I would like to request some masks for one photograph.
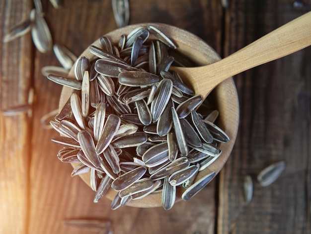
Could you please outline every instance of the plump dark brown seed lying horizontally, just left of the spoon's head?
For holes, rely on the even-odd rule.
[[[141,71],[121,72],[118,77],[120,84],[132,87],[152,85],[160,80],[161,78],[155,74]]]

